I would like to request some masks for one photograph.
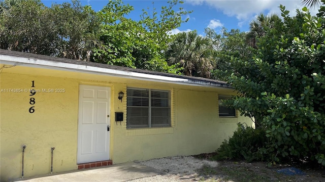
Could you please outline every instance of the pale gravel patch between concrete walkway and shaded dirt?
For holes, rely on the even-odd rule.
[[[143,165],[164,171],[164,174],[131,180],[140,181],[193,181],[198,176],[196,170],[204,166],[217,167],[218,162],[197,159],[192,156],[166,157],[140,162]]]

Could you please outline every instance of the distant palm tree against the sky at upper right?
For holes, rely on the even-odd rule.
[[[259,14],[249,24],[249,32],[246,37],[248,44],[253,48],[257,48],[256,39],[265,36],[267,33],[266,29],[272,28],[274,23],[279,20],[280,18],[276,14],[272,14],[271,16],[266,16],[263,13]]]

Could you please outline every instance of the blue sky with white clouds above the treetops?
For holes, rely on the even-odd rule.
[[[204,29],[210,27],[217,32],[222,27],[231,30],[233,28],[240,29],[241,31],[249,30],[249,22],[252,21],[259,13],[264,14],[278,14],[280,15],[279,5],[282,4],[290,11],[290,15],[296,14],[296,9],[302,9],[303,5],[300,0],[183,0],[184,4],[181,5],[186,11],[193,11],[185,18],[189,18],[187,23],[182,24],[172,33],[181,31],[197,30],[199,34],[204,34]],[[46,6],[51,6],[52,3],[61,4],[62,2],[71,1],[42,1]],[[142,9],[153,7],[160,10],[161,6],[167,6],[167,1],[150,1],[150,0],[128,0],[123,1],[134,7],[134,11],[129,14],[129,18],[138,20],[142,14]],[[154,2],[154,4],[152,4]],[[108,0],[87,0],[81,1],[83,5],[90,5],[95,11],[100,11],[107,3]],[[176,9],[175,9],[176,10]],[[317,9],[310,10],[313,15],[317,13]]]

